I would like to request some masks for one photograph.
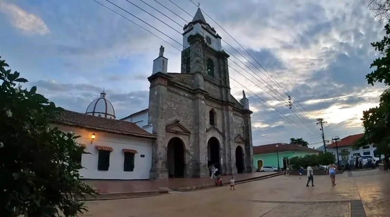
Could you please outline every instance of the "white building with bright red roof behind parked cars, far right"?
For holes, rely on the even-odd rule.
[[[327,150],[330,152],[333,152],[334,155],[337,153],[338,149],[338,155],[339,160],[347,160],[351,159],[351,157],[355,157],[358,155],[372,155],[375,157],[380,157],[379,154],[376,153],[376,147],[372,144],[367,144],[360,148],[352,147],[353,143],[356,142],[358,139],[363,137],[363,133],[355,134],[351,136],[347,136],[339,141],[337,141],[337,148],[336,143],[332,143],[331,145],[327,146]],[[337,160],[337,156],[336,156]]]

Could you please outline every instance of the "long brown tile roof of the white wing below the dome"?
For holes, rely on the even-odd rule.
[[[149,133],[141,127],[138,127],[136,124],[128,121],[101,118],[69,110],[64,110],[58,114],[53,122],[70,126],[97,129],[106,132],[114,132],[124,135],[156,138],[155,134]]]

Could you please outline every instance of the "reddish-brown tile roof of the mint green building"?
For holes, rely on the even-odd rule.
[[[278,148],[276,148],[276,145],[279,145]],[[281,151],[307,151],[307,152],[314,152],[314,153],[321,152],[313,148],[302,147],[299,145],[290,145],[286,143],[274,143],[269,145],[254,146],[253,154],[275,153],[277,150],[279,152]]]

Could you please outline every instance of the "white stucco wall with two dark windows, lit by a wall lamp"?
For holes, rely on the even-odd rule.
[[[150,138],[139,138],[127,135],[120,135],[98,130],[89,130],[76,128],[65,125],[55,125],[64,132],[75,132],[81,137],[78,142],[87,146],[86,152],[91,154],[83,154],[81,165],[85,167],[81,169],[80,175],[83,179],[111,179],[111,180],[142,180],[149,179],[149,171],[152,167],[152,141]],[[91,135],[96,134],[96,139],[91,144]],[[114,150],[110,154],[110,167],[108,171],[98,170],[98,150],[95,145],[110,146]],[[134,171],[123,171],[124,155],[122,149],[137,150],[135,154]],[[141,158],[141,155],[145,157]]]

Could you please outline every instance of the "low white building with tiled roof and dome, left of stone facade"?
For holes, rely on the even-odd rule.
[[[149,179],[156,135],[135,123],[115,120],[115,110],[105,97],[103,91],[85,114],[65,110],[53,127],[80,135],[78,143],[91,153],[80,156],[83,179]]]

